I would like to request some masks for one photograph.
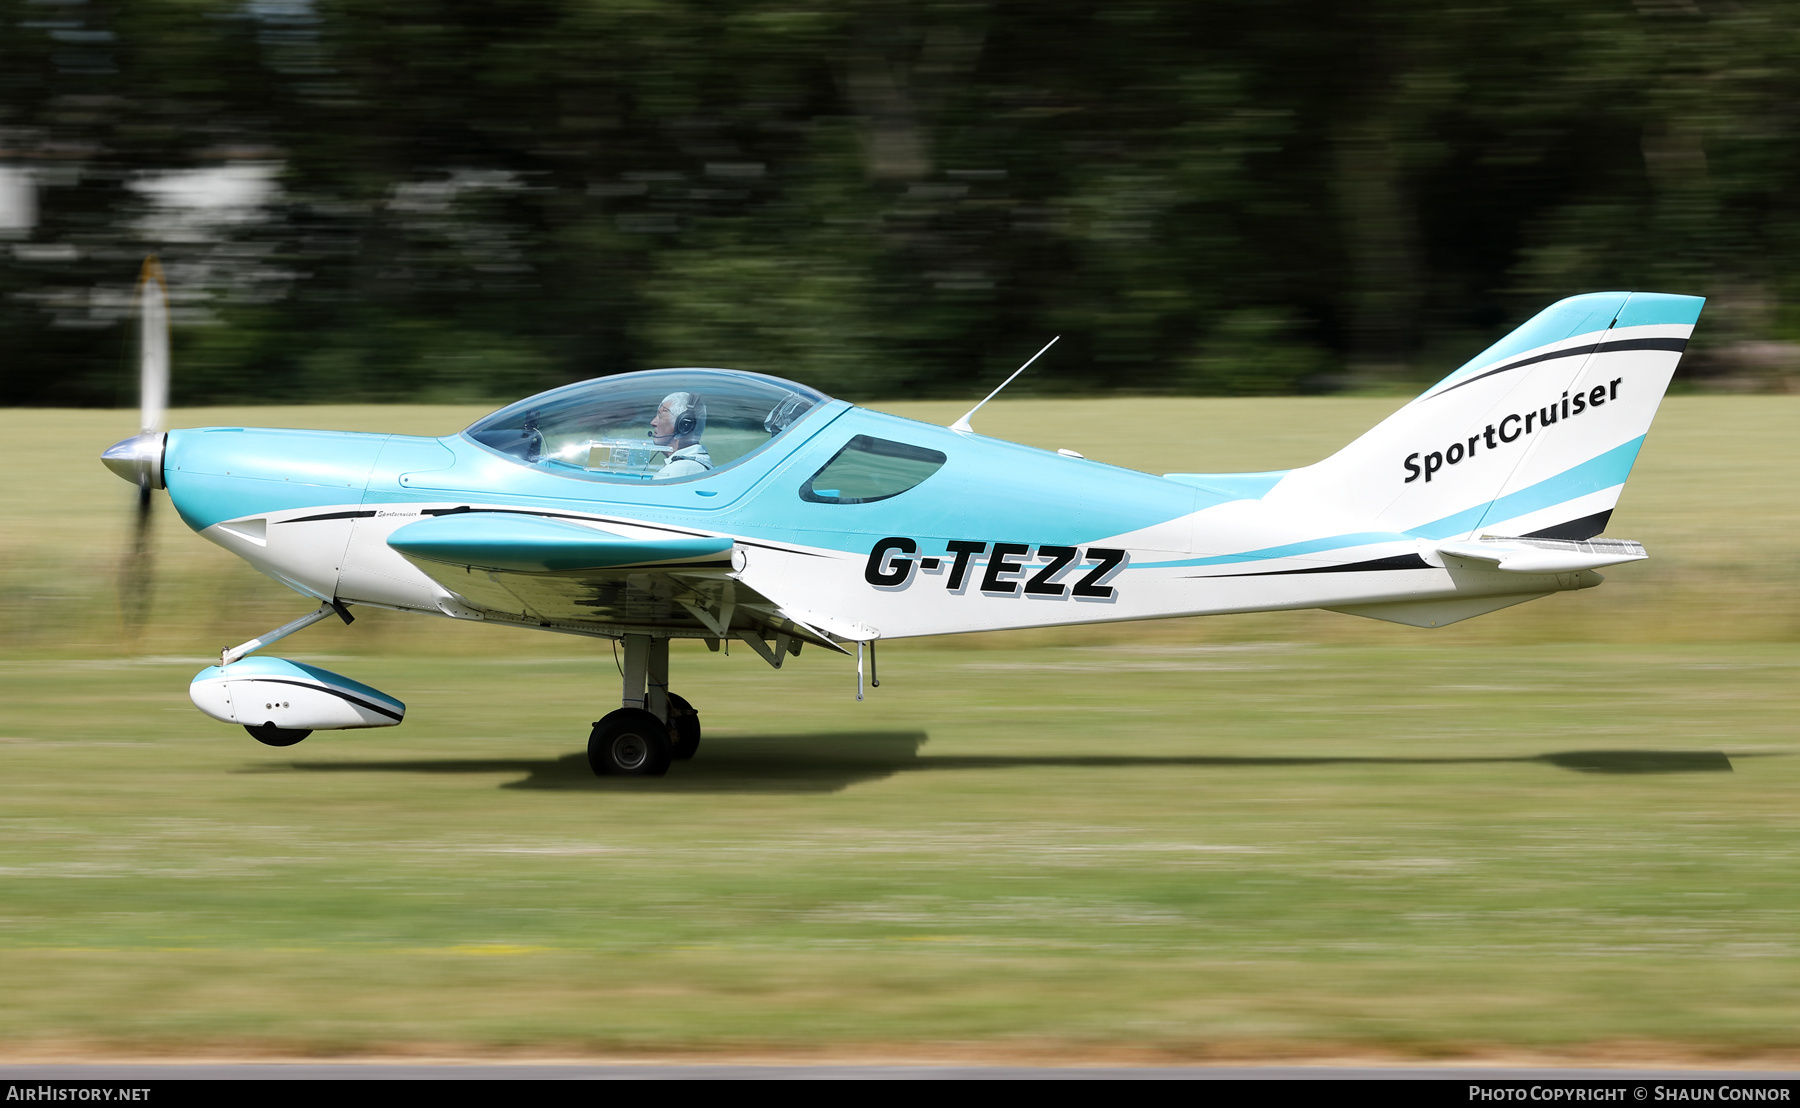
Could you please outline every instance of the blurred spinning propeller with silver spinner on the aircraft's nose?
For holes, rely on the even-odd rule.
[[[169,408],[169,286],[155,255],[137,277],[139,313],[139,433],[103,455],[110,469],[137,484],[131,550],[119,567],[119,612],[130,635],[149,621],[157,585],[151,489],[162,487],[162,417]]]

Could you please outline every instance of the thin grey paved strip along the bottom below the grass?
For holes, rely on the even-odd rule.
[[[9,1081],[1800,1081],[1800,1070],[1503,1067],[958,1067],[958,1065],[400,1065],[99,1063],[4,1065]]]

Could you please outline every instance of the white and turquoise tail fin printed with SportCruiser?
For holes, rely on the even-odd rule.
[[[1591,538],[1606,529],[1705,304],[1586,293],[1552,304],[1273,498],[1370,531]]]

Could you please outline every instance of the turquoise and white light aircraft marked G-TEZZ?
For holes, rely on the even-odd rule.
[[[589,761],[661,775],[700,741],[677,637],[776,669],[853,646],[860,698],[882,639],[1283,608],[1436,628],[1595,586],[1645,558],[1597,536],[1701,304],[1571,297],[1318,464],[1161,477],[720,369],[580,381],[441,439],[164,433],[146,311],[144,433],[103,460],[319,601],[194,678],[209,716],[275,746],[400,723],[376,689],[247,657],[371,604],[623,642]]]

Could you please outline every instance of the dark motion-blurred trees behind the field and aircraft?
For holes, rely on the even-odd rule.
[[[1433,380],[1553,299],[1800,338],[1791,0],[0,0],[0,403]]]

